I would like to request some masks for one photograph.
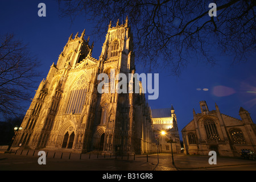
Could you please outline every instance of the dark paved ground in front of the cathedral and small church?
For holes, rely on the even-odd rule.
[[[0,171],[201,171],[236,170],[256,171],[255,160],[217,156],[217,164],[209,164],[210,156],[174,154],[123,155],[76,154],[46,151],[46,164],[39,164],[39,151],[0,150]],[[230,168],[232,170],[232,168]]]

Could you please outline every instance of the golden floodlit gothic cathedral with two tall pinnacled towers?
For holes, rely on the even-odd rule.
[[[128,19],[106,34],[99,59],[93,43],[69,37],[57,64],[52,64],[23,119],[14,146],[106,153],[151,152],[151,110],[143,93],[99,93],[97,77],[135,73],[133,36]],[[118,80],[114,80],[117,84]],[[102,89],[109,88],[104,84]]]

